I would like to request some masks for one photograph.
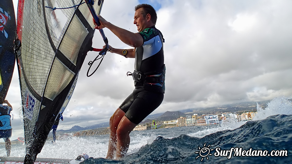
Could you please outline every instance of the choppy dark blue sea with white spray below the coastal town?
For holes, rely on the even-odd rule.
[[[75,159],[86,153],[91,158],[82,164],[292,163],[291,97],[275,98],[265,109],[258,106],[257,111],[252,121],[227,119],[217,126],[133,131],[128,153],[121,161],[105,159],[109,135],[69,137],[56,144],[48,141],[38,157]],[[234,151],[230,156],[228,150],[234,149],[241,156],[234,156]],[[0,156],[4,154],[5,148],[1,147]],[[25,146],[12,145],[11,156],[25,156]]]

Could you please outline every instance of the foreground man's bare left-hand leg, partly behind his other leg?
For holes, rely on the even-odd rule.
[[[117,148],[117,128],[121,121],[121,119],[124,117],[125,112],[122,111],[120,108],[114,112],[112,117],[109,119],[109,146],[107,150],[107,159],[114,159],[114,154],[116,153]]]

